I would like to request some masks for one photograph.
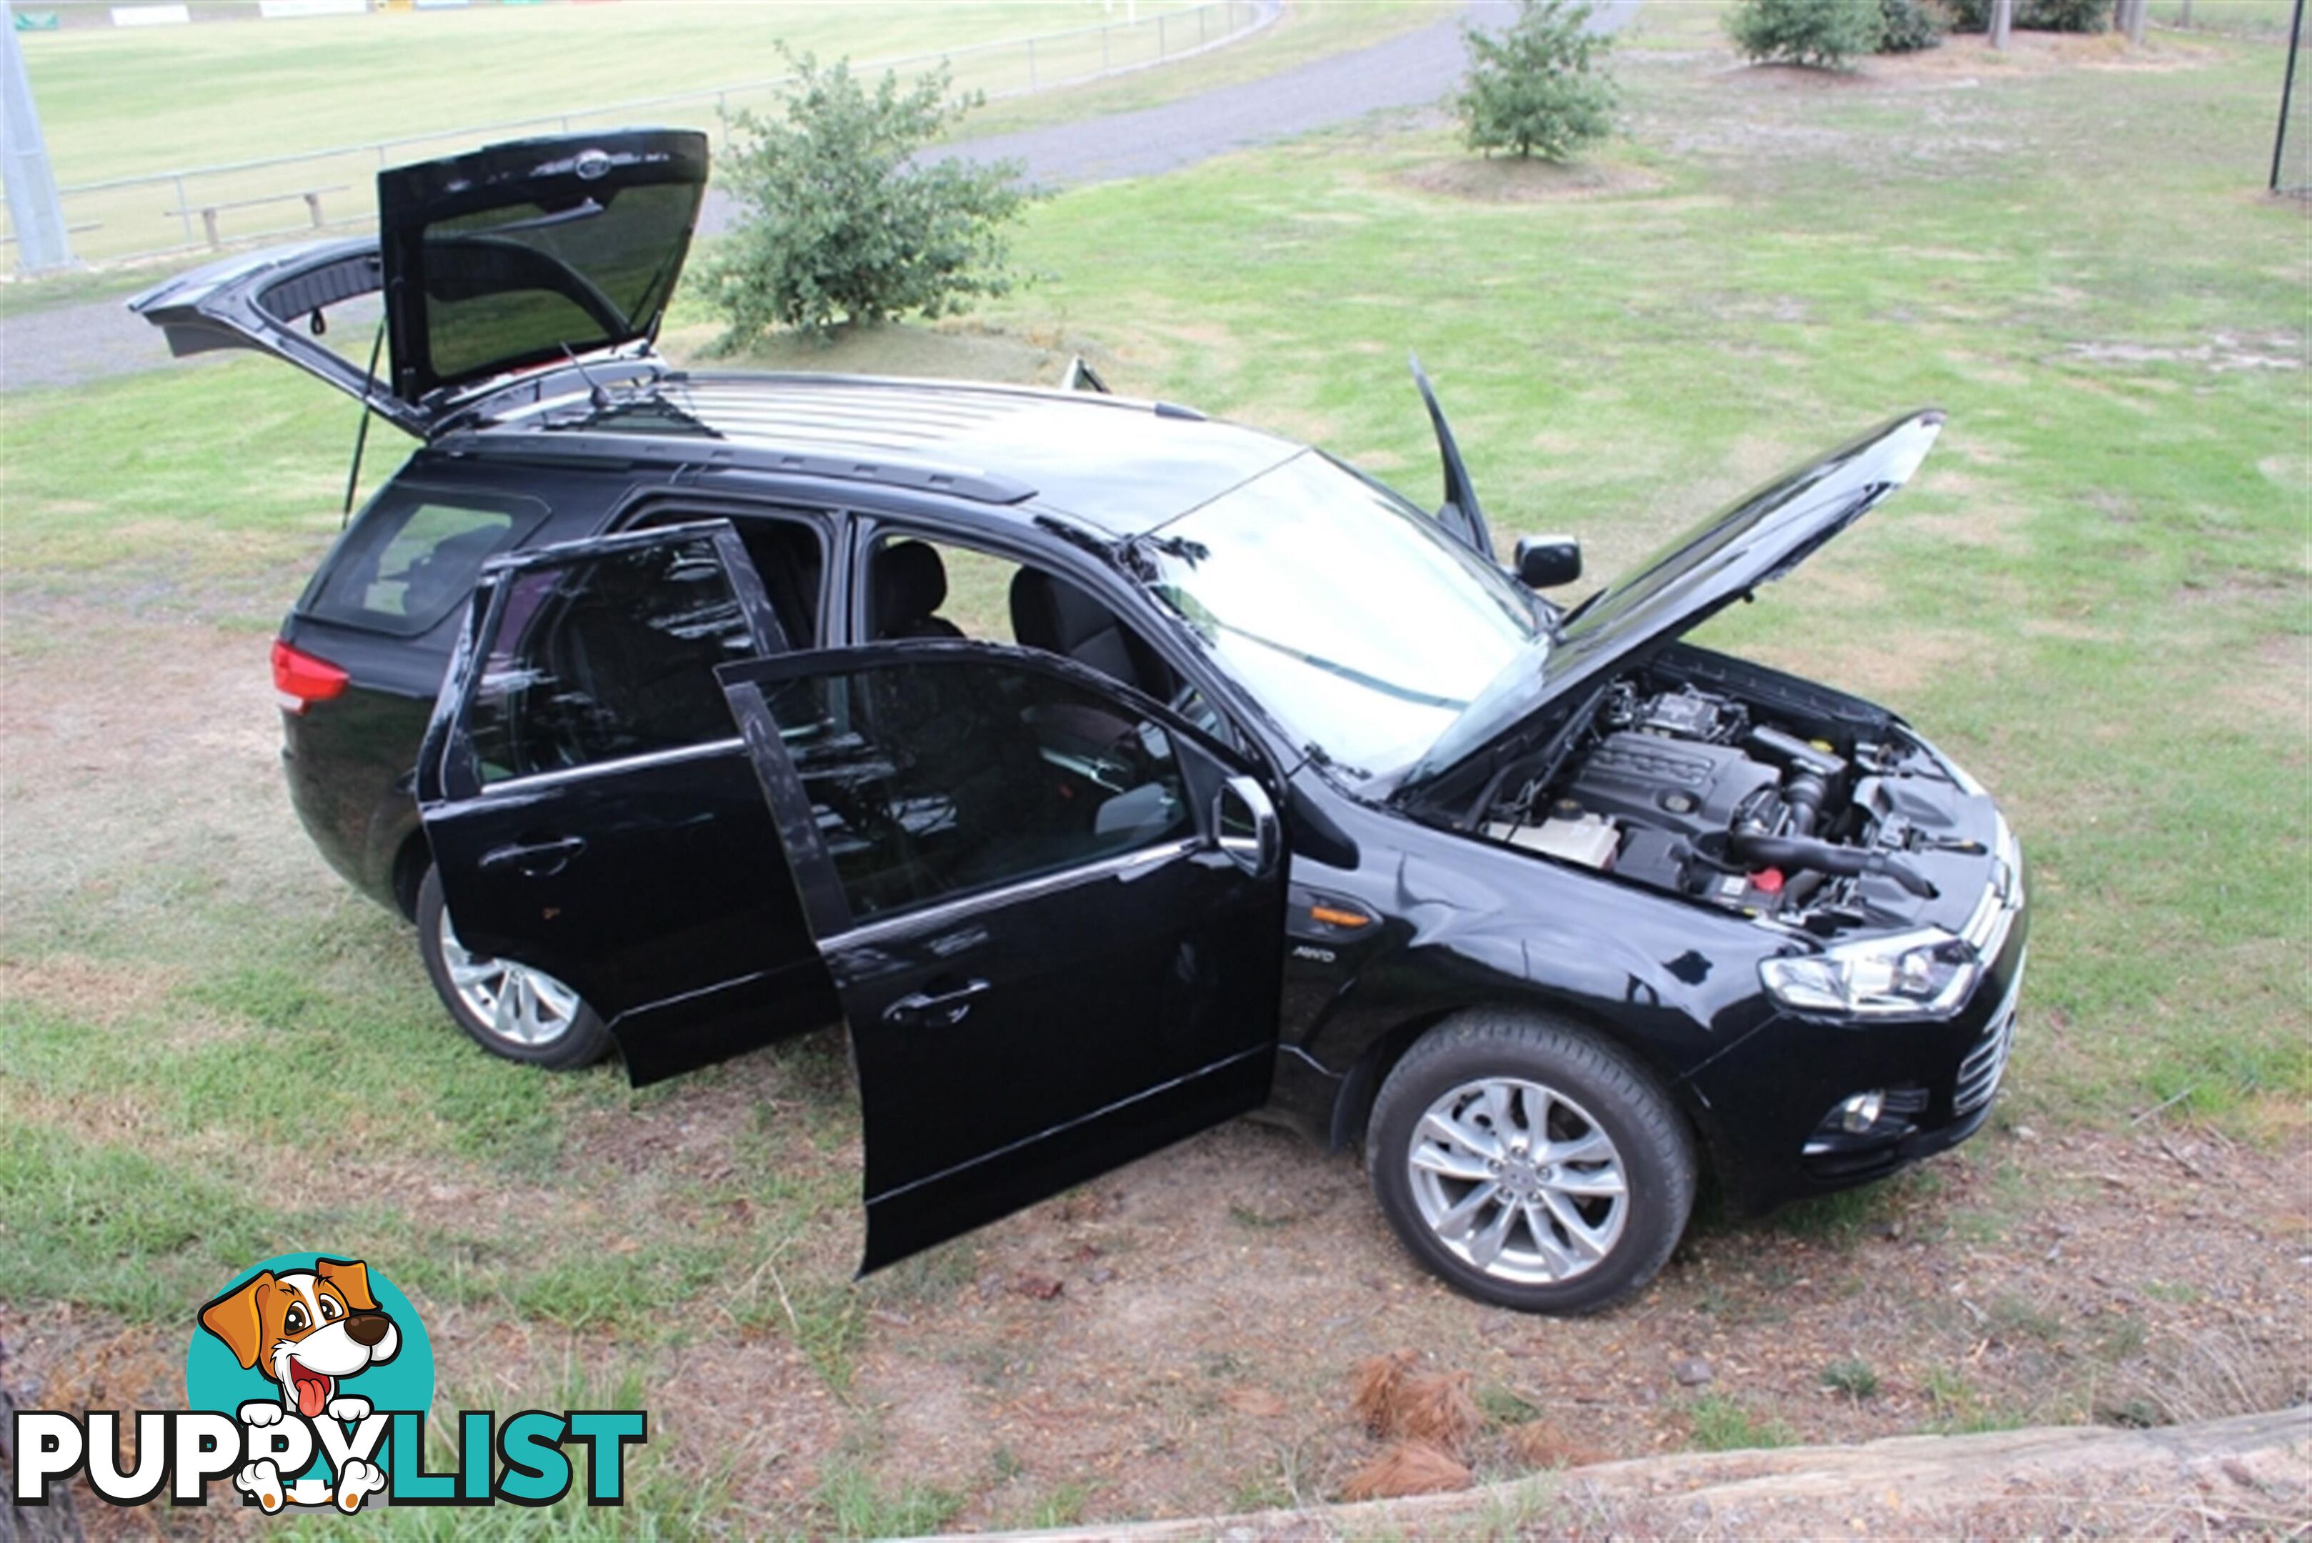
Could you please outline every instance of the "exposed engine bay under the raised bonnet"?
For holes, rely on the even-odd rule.
[[[1489,840],[1771,925],[1914,918],[1951,854],[1984,854],[1981,789],[1884,713],[1836,713],[1739,662],[1639,669],[1500,780]],[[1859,708],[1850,699],[1840,699]]]

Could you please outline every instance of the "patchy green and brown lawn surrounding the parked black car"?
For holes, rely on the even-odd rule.
[[[1089,347],[1121,391],[1433,497],[1415,347],[1496,530],[1572,530],[1598,574],[1803,453],[1947,407],[1912,490],[1704,641],[1898,706],[2011,812],[2032,976],[1998,1129],[1965,1154],[1706,1231],[1607,1321],[1489,1328],[1403,1265],[1353,1164],[1246,1127],[1140,1166],[1170,1164],[1163,1182],[853,1286],[839,1043],[645,1092],[492,1062],[444,1022],[407,930],[305,849],[264,643],[338,527],[351,421],[303,377],[224,361],[0,398],[0,1337],[88,1397],[155,1407],[190,1302],[236,1268],[368,1254],[425,1305],[442,1409],[576,1407],[576,1367],[659,1411],[624,1520],[675,1534],[1327,1494],[1355,1441],[1339,1416],[1230,1400],[1258,1379],[1295,1411],[1336,1400],[1346,1358],[1394,1342],[1521,1367],[1487,1372],[1524,1388],[1496,1400],[1512,1409],[1595,1365],[1602,1455],[2088,1418],[2115,1376],[2157,1381],[2146,1326],[2157,1344],[2231,1293],[2215,1265],[2136,1249],[2162,1277],[2125,1319],[2011,1286],[1970,1305],[1991,1328],[1926,1272],[2053,1261],[2023,1221],[2048,1196],[2173,1187],[2157,1152],[2164,1180],[2099,1182],[2048,1138],[2171,1131],[2273,1171],[2307,1140],[2312,238],[2300,204],[2257,194],[2280,56],[2162,35],[2000,62],[1954,42],[1824,81],[1734,72],[1692,12],[1648,7],[1632,134],[1586,169],[1468,162],[1445,130],[1387,123],[1070,192],[1031,211],[1031,289],[816,356],[1036,375]],[[2259,1233],[2289,1256],[2291,1205]],[[1868,1242],[1891,1219],[1928,1261],[1914,1298]],[[1082,1249],[1124,1272],[1110,1291],[1172,1270],[1232,1342],[1191,1344],[1172,1302],[1098,1319],[1080,1275],[1061,1307],[1082,1316],[1006,1289]],[[1272,1258],[1299,1275],[1248,1263]],[[2294,1291],[2254,1312],[2298,1321]],[[1371,1312],[1332,1316],[1343,1300]],[[1894,1326],[1859,1339],[1884,1346],[1870,1400],[1822,1393],[1847,1344],[1780,1390],[1611,1381],[1690,1337],[1766,1365],[1824,1323],[1877,1332],[1857,1305]],[[1512,1363],[1512,1342],[1542,1349]],[[712,1400],[691,1397],[703,1358]]]

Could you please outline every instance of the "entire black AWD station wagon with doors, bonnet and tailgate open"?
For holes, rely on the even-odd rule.
[[[1766,1208],[1984,1122],[2007,824],[1894,713],[1681,641],[1940,414],[1561,608],[1574,548],[1496,562],[1433,396],[1427,511],[1163,403],[666,366],[705,174],[495,146],[132,303],[423,442],[273,666],[298,814],[483,1046],[647,1083],[839,1018],[869,1270],[1269,1110],[1542,1312],[1646,1282],[1704,1175]],[[381,377],[319,340],[379,294]]]

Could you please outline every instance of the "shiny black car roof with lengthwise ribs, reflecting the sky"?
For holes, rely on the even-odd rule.
[[[1059,511],[1112,537],[1163,525],[1304,451],[1186,407],[1087,391],[666,372],[610,396],[566,370],[532,400],[499,398],[486,426],[437,446],[874,481]]]

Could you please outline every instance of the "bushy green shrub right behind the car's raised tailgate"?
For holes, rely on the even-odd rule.
[[[1027,194],[1020,162],[916,164],[980,95],[950,97],[946,62],[874,93],[846,60],[821,69],[779,49],[795,72],[784,118],[731,116],[719,180],[740,217],[705,266],[707,303],[738,347],[772,326],[825,333],[837,322],[939,317],[1010,289],[1006,222]]]

